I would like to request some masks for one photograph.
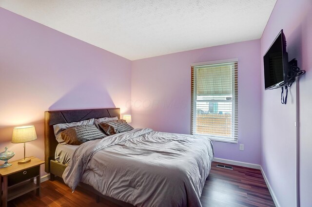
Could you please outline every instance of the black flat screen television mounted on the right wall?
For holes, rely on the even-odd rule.
[[[282,87],[280,84],[287,81],[289,70],[286,39],[283,30],[279,32],[269,50],[263,56],[263,61],[265,90]]]

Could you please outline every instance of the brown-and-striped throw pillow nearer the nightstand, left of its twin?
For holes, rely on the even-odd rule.
[[[62,139],[69,145],[81,145],[90,140],[104,138],[106,135],[94,125],[82,125],[68,128],[60,133]]]

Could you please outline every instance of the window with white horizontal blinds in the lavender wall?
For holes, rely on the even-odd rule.
[[[192,134],[237,142],[237,59],[192,66]]]

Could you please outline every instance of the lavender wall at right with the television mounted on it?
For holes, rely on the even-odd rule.
[[[261,56],[278,32],[284,29],[289,59],[297,58],[307,74],[299,81],[300,110],[300,201],[312,205],[312,1],[277,0],[261,38]],[[264,91],[262,83],[262,151],[261,165],[281,207],[296,206],[296,102],[295,84],[286,106],[280,104],[280,90]]]

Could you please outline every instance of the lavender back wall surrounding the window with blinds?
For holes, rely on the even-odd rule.
[[[238,58],[238,144],[214,142],[215,157],[260,164],[260,40],[132,62],[133,126],[189,134],[191,63]],[[130,103],[128,103],[130,104]]]

